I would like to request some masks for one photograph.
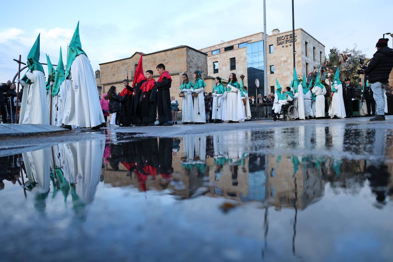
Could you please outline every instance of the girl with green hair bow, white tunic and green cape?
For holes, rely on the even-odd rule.
[[[204,124],[206,123],[205,119],[205,97],[203,95],[203,88],[206,86],[205,82],[202,80],[202,72],[195,71],[194,78],[195,84],[193,92],[198,96],[194,97],[194,114],[193,120],[195,124]]]

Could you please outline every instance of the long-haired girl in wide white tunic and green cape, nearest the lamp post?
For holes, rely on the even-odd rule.
[[[243,102],[240,93],[240,84],[237,82],[237,77],[234,73],[229,75],[228,85],[226,86],[227,104],[226,104],[226,119],[228,123],[237,123],[240,120],[244,121],[243,116]]]

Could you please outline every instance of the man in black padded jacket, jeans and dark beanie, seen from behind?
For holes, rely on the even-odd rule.
[[[393,68],[393,49],[387,47],[388,41],[387,38],[378,40],[375,45],[377,51],[364,70],[371,83],[376,103],[376,116],[371,118],[370,121],[385,120],[385,87]]]

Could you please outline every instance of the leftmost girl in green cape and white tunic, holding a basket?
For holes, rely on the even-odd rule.
[[[194,106],[193,106],[193,83],[189,81],[188,75],[183,74],[183,83],[180,86],[180,93],[184,94],[182,97],[182,122],[187,125],[193,122]]]

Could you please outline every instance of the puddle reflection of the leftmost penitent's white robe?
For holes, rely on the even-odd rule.
[[[31,192],[43,194],[49,192],[50,185],[50,148],[22,153],[28,181],[25,185],[33,182],[38,183]]]

